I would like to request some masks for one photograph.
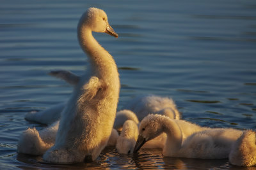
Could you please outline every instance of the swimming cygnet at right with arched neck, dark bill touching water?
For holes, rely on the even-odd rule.
[[[173,120],[163,115],[148,115],[141,121],[134,153],[145,142],[156,138],[162,132],[167,134],[163,148],[164,157],[200,159],[228,158],[232,144],[243,133],[235,129],[199,127],[184,120]]]

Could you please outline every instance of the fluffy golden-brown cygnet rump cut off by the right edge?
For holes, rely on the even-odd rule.
[[[232,145],[229,154],[230,164],[237,166],[256,166],[256,133],[244,131]]]

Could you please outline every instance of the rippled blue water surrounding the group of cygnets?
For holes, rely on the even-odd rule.
[[[156,94],[173,97],[196,124],[256,130],[255,1],[1,1],[0,169],[241,169],[227,159],[163,158],[161,150],[110,148],[71,166],[17,154],[21,132],[43,128],[24,115],[66,101],[72,90],[47,72],[83,74],[76,26],[90,6],[104,9],[120,36],[94,34],[119,67],[119,109],[137,94]]]

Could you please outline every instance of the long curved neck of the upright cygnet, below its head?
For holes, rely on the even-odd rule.
[[[90,27],[79,26],[77,36],[81,48],[88,54],[92,74],[104,78],[109,76],[107,73],[113,73],[111,69],[117,70],[115,60],[93,37]]]

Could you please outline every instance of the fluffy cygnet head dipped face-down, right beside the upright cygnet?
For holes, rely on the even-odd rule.
[[[122,132],[116,141],[116,150],[118,153],[132,153],[138,136],[138,125],[132,120],[124,123]]]

